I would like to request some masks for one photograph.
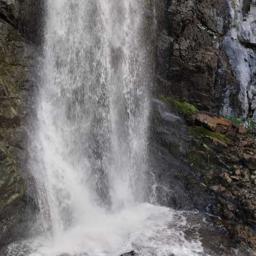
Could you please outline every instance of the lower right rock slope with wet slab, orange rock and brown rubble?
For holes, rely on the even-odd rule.
[[[255,250],[256,134],[206,112],[191,122],[175,103],[165,98],[153,105],[157,202],[219,216],[234,239]]]

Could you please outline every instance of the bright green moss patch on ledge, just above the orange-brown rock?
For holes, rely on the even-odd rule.
[[[196,106],[190,103],[180,102],[170,97],[164,97],[163,95],[160,96],[160,99],[164,102],[171,103],[173,105],[174,110],[177,113],[181,113],[184,116],[196,115],[198,112]]]

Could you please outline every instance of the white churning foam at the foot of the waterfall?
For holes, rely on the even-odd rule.
[[[146,203],[119,212],[97,211],[91,219],[57,237],[27,241],[33,251],[28,255],[119,256],[131,250],[143,256],[206,255],[198,239],[186,240],[186,228],[182,212]],[[9,256],[23,255],[22,251],[14,252],[10,246]]]

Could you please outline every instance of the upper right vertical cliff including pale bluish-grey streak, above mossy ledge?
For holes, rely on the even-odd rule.
[[[254,118],[255,3],[166,0],[158,7],[158,91],[200,110]]]

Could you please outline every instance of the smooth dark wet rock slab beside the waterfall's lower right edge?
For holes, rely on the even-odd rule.
[[[201,169],[194,172],[190,166],[193,165],[189,160],[192,137],[182,113],[161,100],[154,100],[152,105],[149,150],[155,184],[153,203],[178,210],[207,211],[216,199],[203,184]],[[200,156],[200,152],[195,154]]]

